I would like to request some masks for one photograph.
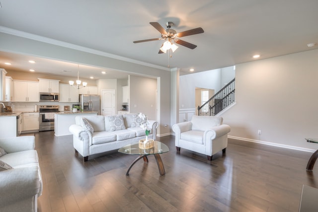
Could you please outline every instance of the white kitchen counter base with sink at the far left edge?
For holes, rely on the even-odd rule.
[[[17,137],[19,134],[19,116],[21,112],[0,113],[0,138]]]

